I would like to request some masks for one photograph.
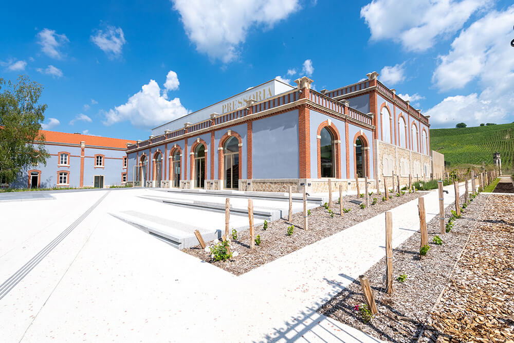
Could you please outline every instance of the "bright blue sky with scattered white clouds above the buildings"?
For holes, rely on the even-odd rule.
[[[509,7],[510,6],[510,7]],[[2,2],[0,77],[44,86],[45,128],[145,139],[274,77],[379,80],[432,128],[514,120],[504,1]]]

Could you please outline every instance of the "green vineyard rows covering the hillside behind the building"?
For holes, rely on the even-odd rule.
[[[447,167],[492,165],[500,152],[504,173],[514,170],[514,123],[461,129],[430,130],[430,148],[445,155]],[[448,165],[449,163],[449,165]]]

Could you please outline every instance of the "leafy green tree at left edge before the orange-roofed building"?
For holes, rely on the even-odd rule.
[[[48,153],[36,141],[46,104],[38,104],[43,86],[19,76],[15,84],[0,78],[0,180],[12,183],[28,167],[43,163]]]

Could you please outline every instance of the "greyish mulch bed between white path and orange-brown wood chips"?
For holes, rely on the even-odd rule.
[[[419,233],[393,249],[394,281],[391,295],[382,288],[385,285],[385,257],[365,273],[374,291],[379,312],[368,323],[364,323],[359,312],[354,310],[356,305],[365,303],[359,280],[348,285],[323,305],[319,312],[382,340],[411,342],[417,339],[424,323],[430,318],[430,311],[440,292],[450,282],[455,261],[486,201],[486,195],[474,198],[462,218],[455,221],[450,233],[440,234],[437,217],[427,223],[430,250],[423,258],[419,258]],[[461,197],[462,202],[464,197]],[[446,218],[454,208],[448,206]],[[442,238],[443,245],[433,243],[435,235]],[[396,280],[400,274],[407,275],[404,282]]]

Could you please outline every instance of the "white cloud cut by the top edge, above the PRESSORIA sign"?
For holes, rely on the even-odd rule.
[[[196,50],[228,63],[237,59],[250,28],[271,28],[297,11],[298,0],[172,0]]]

